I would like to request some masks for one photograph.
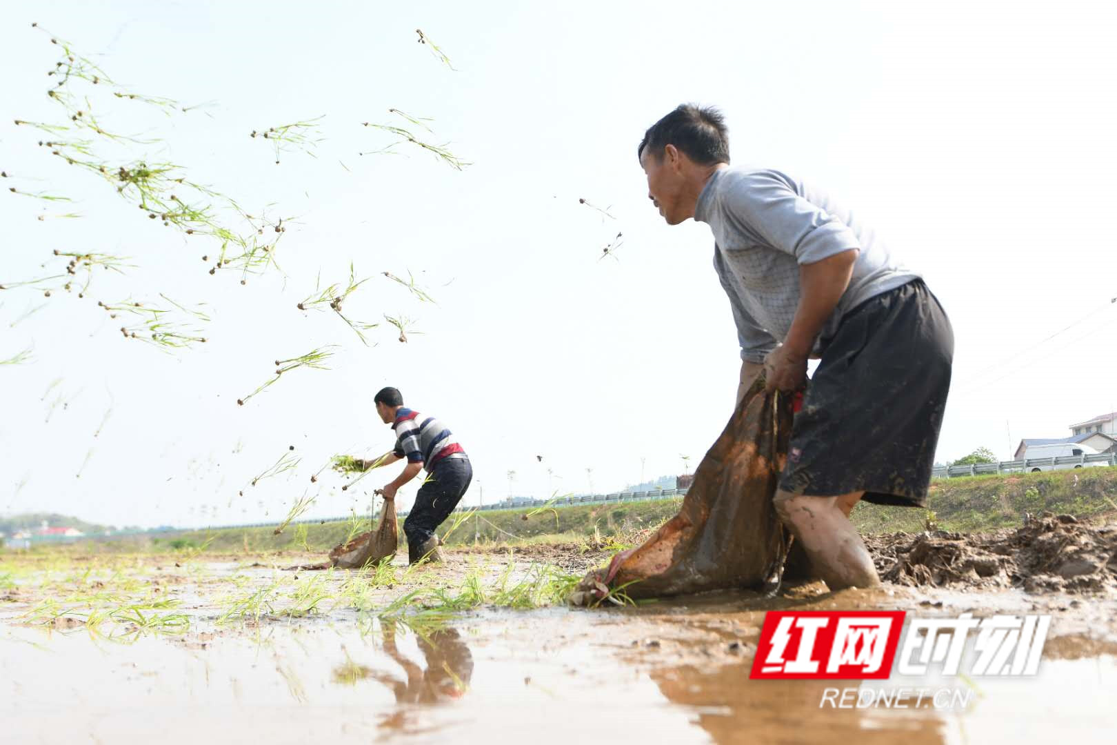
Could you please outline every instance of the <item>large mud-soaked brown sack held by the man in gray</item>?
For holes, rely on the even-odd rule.
[[[791,437],[791,397],[756,381],[695,470],[679,513],[590,572],[570,602],[591,605],[706,590],[771,589],[790,545],[772,498]]]

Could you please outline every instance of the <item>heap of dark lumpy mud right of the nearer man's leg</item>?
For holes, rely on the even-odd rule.
[[[907,586],[1018,588],[1117,596],[1117,525],[1043,513],[991,533],[867,536],[881,580]]]

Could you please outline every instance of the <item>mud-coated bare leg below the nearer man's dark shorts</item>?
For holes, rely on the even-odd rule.
[[[783,490],[775,496],[780,518],[802,543],[811,566],[830,590],[880,584],[872,557],[848,517],[860,498],[861,493],[814,497]]]

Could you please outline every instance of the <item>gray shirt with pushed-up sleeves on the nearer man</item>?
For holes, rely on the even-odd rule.
[[[822,354],[846,313],[919,277],[849,210],[779,171],[718,169],[698,197],[695,220],[714,231],[714,268],[733,307],[741,359],[748,362],[763,362],[787,337],[801,264],[858,249],[849,287],[823,324],[814,354]]]

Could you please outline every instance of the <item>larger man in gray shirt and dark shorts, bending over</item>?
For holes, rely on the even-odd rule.
[[[849,210],[773,170],[729,165],[713,108],[684,105],[645,134],[648,197],[668,225],[709,225],[741,345],[739,403],[805,388],[775,495],[831,590],[879,583],[849,513],[924,506],[954,337],[923,279]],[[821,359],[806,385],[806,361]]]

